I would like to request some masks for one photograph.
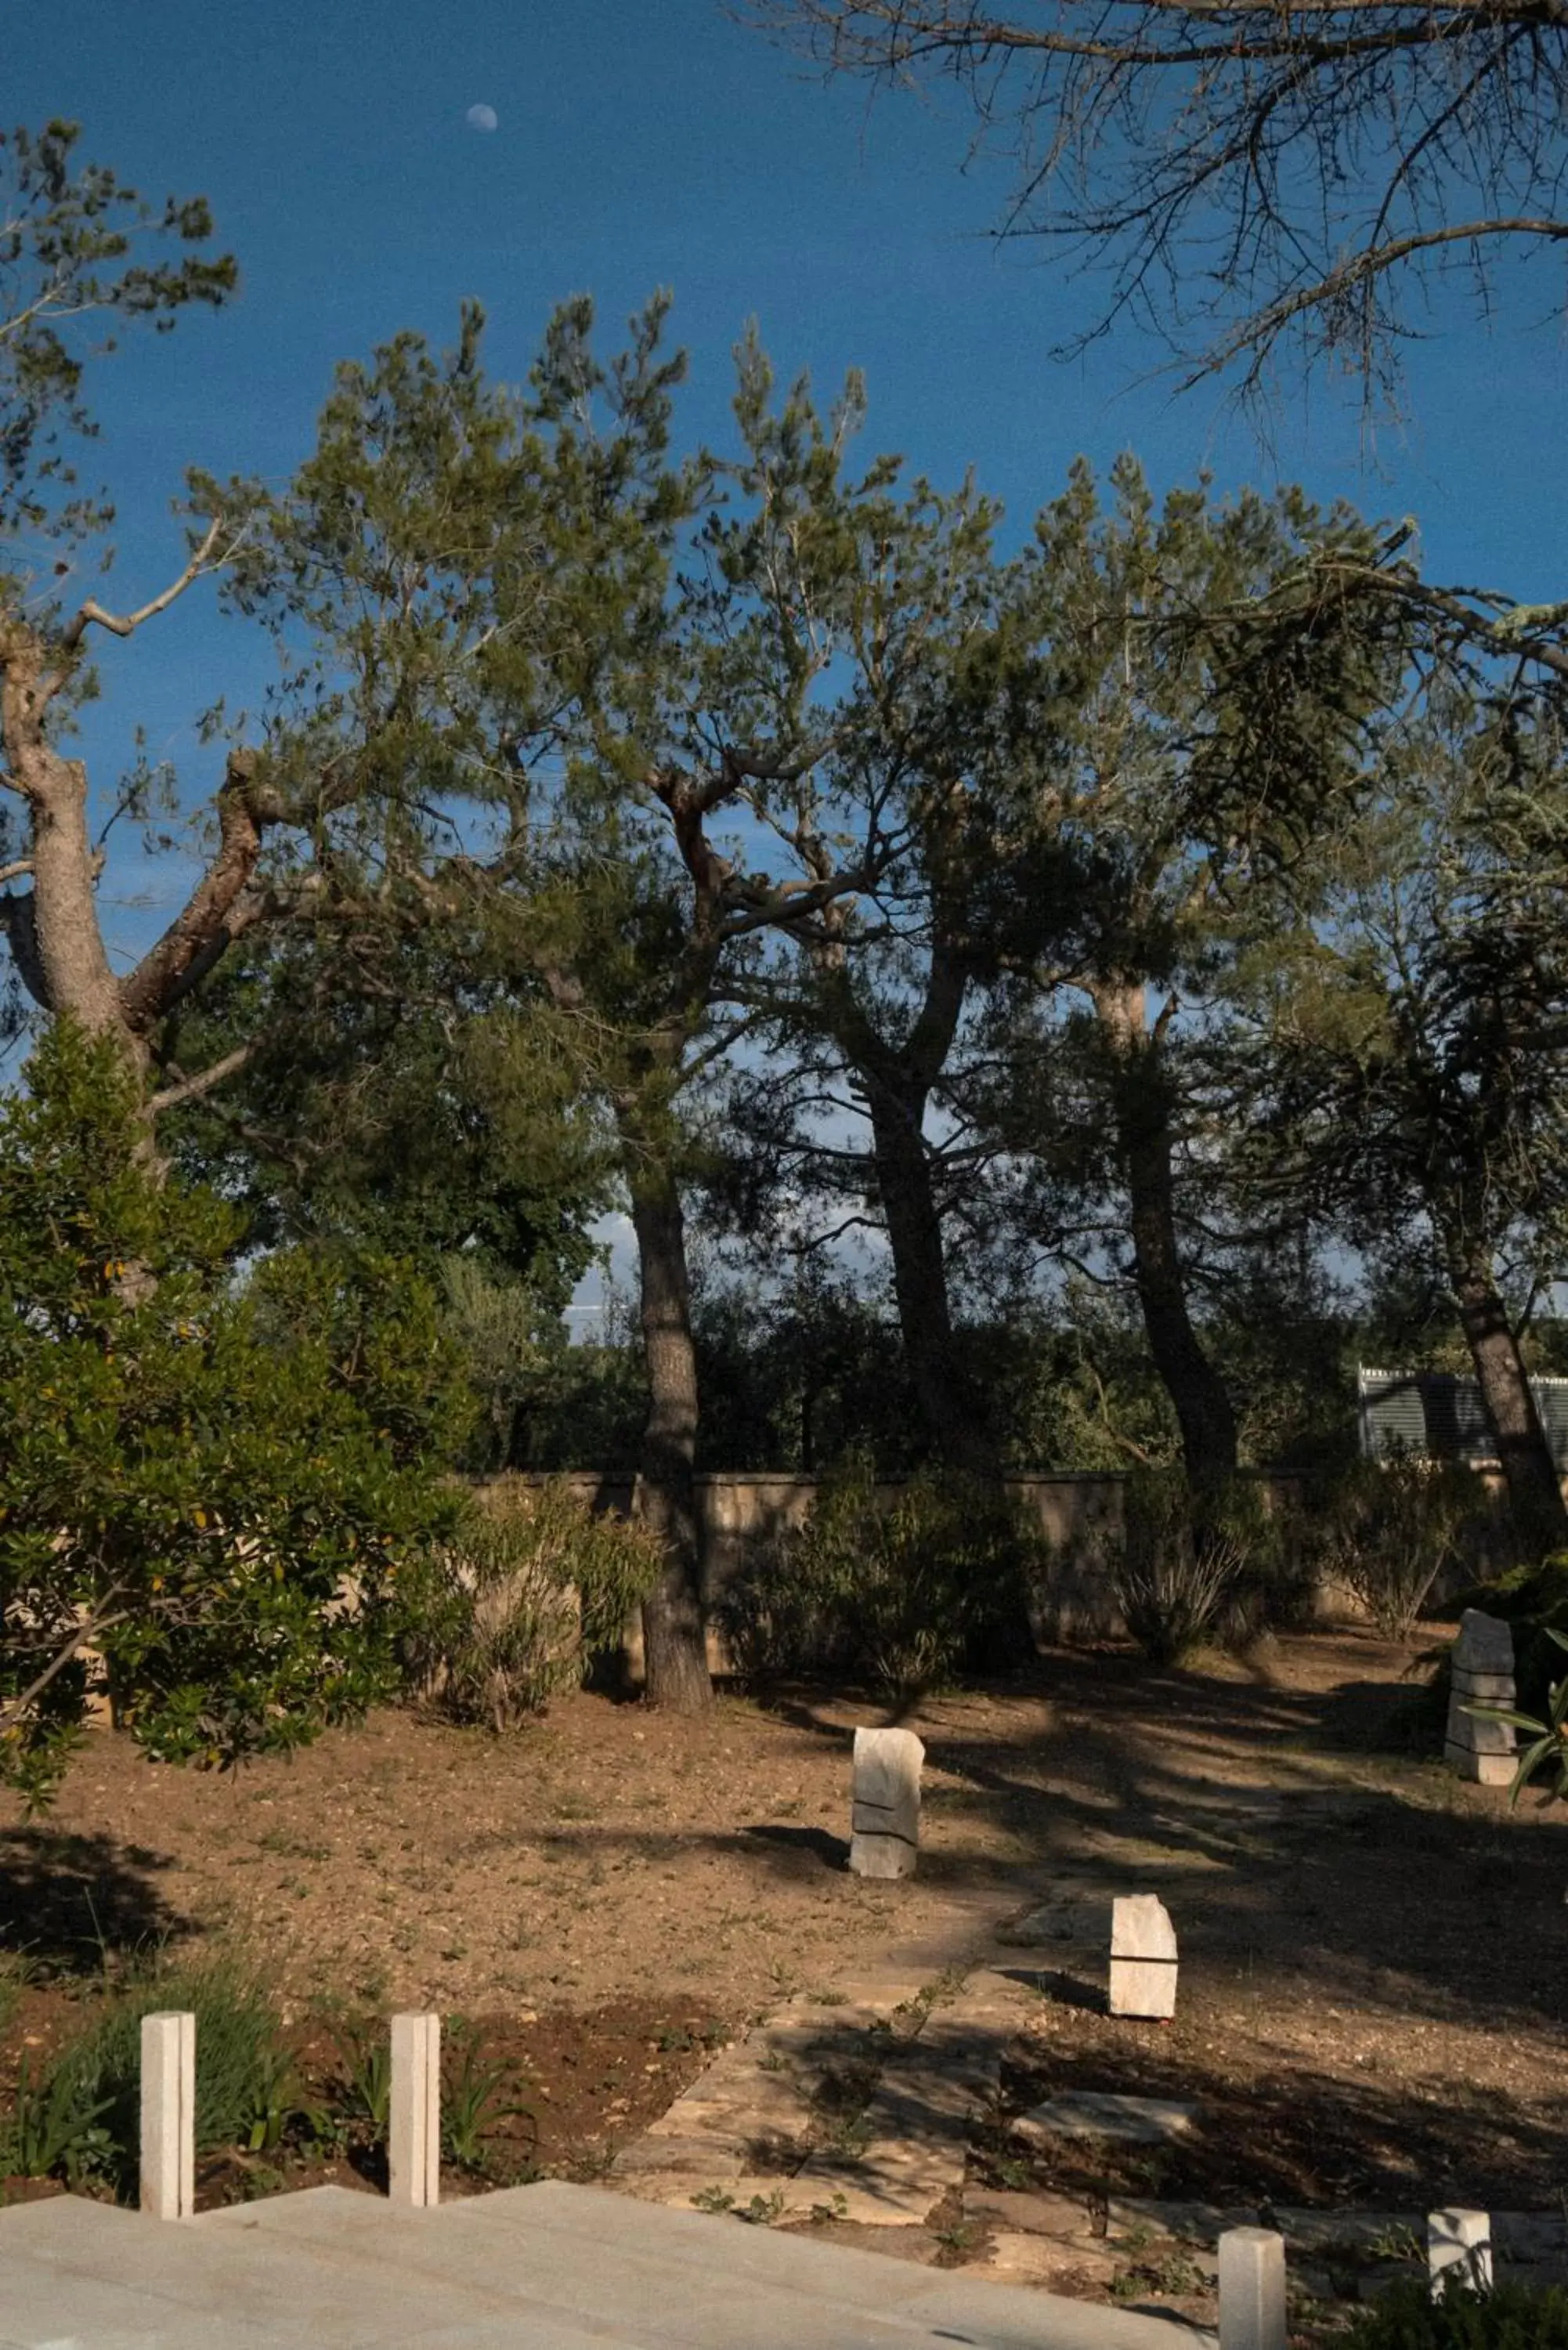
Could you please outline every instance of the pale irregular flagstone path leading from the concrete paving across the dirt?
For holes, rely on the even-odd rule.
[[[1143,1873],[1143,1871],[1140,1871]],[[1157,1878],[1180,1868],[1150,1871]],[[1225,2228],[1269,2225],[1286,2237],[1291,2282],[1331,2298],[1368,2294],[1394,2275],[1425,2272],[1425,2214],[1222,2211],[1194,2202],[1112,2197],[1086,2202],[1044,2190],[966,2188],[969,2124],[999,2089],[1001,2056],[1039,2002],[1032,1950],[1103,1972],[1112,1899],[1128,1878],[1058,1873],[1051,1896],[1013,1904],[954,1901],[922,1946],[889,1950],[879,1967],[825,1993],[797,1993],[705,2073],[632,2146],[604,2181],[642,2202],[733,2214],[764,2228],[926,2230],[961,2261],[961,2275],[1103,2296],[1112,2280],[1164,2272],[1187,2315],[1213,2305],[1215,2244]],[[1053,1972],[1053,1962],[1048,1962]],[[1105,2129],[1159,2141],[1199,2117],[1168,2099],[1079,2092],[1058,2099],[1058,2134]],[[1030,2136],[1051,2108],[1018,2117]],[[858,2235],[858,2242],[875,2237]],[[1568,2282],[1568,2218],[1493,2214],[1497,2272]],[[973,2247],[973,2251],[969,2251]],[[896,2249],[886,2240],[886,2249]],[[1154,2310],[1145,2298],[1143,2308]]]

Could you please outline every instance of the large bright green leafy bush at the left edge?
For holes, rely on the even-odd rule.
[[[233,1762],[395,1685],[397,1577],[456,1518],[437,1300],[350,1253],[240,1285],[240,1248],[54,1022],[0,1104],[0,1781],[33,1802],[94,1690],[150,1753]]]

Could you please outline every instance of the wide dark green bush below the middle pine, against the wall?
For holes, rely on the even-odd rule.
[[[748,1678],[858,1680],[903,1701],[1016,1661],[1041,1560],[1044,1537],[994,1488],[926,1469],[886,1495],[856,1455],[715,1612]]]

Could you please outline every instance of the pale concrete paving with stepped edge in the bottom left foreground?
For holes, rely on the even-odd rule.
[[[0,2211],[0,2350],[1197,2350],[1159,2317],[541,2181]]]

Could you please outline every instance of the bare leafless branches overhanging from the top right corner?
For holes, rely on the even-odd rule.
[[[830,75],[952,82],[1013,164],[1001,237],[1065,240],[1194,381],[1276,345],[1392,392],[1406,287],[1568,237],[1563,0],[731,0]],[[1194,341],[1192,329],[1199,327]]]

